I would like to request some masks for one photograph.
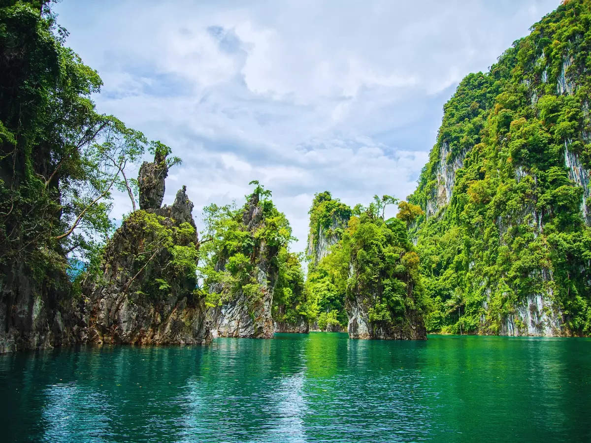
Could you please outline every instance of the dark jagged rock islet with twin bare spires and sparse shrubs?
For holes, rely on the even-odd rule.
[[[162,164],[155,159],[152,167]],[[157,189],[154,189],[157,188]],[[186,188],[160,207],[163,180],[140,187],[143,209],[109,240],[100,276],[84,285],[82,341],[122,344],[207,344],[212,335],[196,291],[197,233]],[[150,196],[150,197],[147,197]]]

